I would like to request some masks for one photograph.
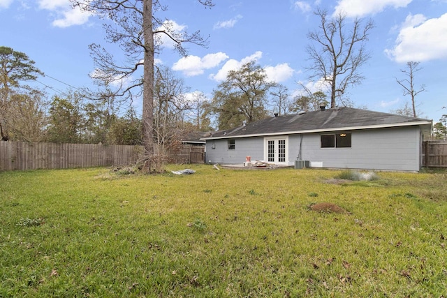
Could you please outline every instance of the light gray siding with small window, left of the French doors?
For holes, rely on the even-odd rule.
[[[251,161],[264,159],[263,137],[242,137],[234,140],[235,150],[228,150],[227,139],[207,140],[207,163],[241,164],[244,163],[246,156],[251,156]]]

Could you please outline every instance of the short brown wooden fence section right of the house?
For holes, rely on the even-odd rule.
[[[424,167],[447,167],[447,141],[424,141],[422,144],[422,165]]]

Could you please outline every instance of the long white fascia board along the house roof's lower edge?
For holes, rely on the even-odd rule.
[[[396,124],[377,124],[368,126],[347,126],[347,127],[337,127],[337,128],[321,128],[312,129],[307,131],[284,131],[281,133],[256,133],[252,135],[223,135],[221,137],[203,137],[200,140],[220,140],[220,139],[237,139],[241,137],[265,137],[268,135],[298,135],[300,133],[326,133],[332,131],[360,131],[363,129],[374,129],[374,128],[394,128],[402,126],[422,126],[422,125],[432,125],[432,121],[418,121],[418,122],[405,122]]]

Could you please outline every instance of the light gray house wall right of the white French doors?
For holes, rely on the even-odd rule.
[[[340,131],[339,133],[347,133]],[[323,167],[369,170],[420,170],[421,136],[418,127],[351,131],[351,148],[321,148],[321,135],[304,134],[302,157],[322,162]],[[289,138],[290,150],[298,156],[300,135]]]

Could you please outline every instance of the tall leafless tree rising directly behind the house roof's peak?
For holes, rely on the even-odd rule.
[[[341,97],[351,85],[360,84],[364,79],[360,66],[369,59],[365,50],[369,31],[374,27],[372,20],[354,19],[349,27],[349,20],[343,13],[328,17],[328,12],[318,8],[314,13],[320,18],[316,31],[307,37],[311,44],[307,47],[308,67],[312,71],[310,79],[323,80],[330,89],[330,107],[336,106],[336,99]]]

